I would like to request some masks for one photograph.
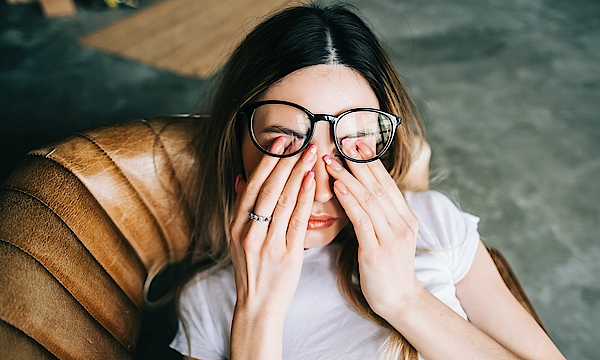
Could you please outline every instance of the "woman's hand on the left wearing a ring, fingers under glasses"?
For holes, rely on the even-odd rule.
[[[282,153],[285,139],[271,151]],[[283,324],[300,280],[315,193],[316,145],[289,158],[263,156],[248,181],[236,184],[230,252],[237,292],[236,313]],[[270,216],[252,221],[250,212]],[[234,315],[235,322],[235,315]]]

